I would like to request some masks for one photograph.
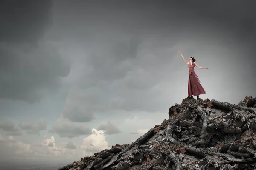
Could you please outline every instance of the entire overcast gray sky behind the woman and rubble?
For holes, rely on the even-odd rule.
[[[255,0],[1,0],[0,160],[131,144],[187,97],[256,96]],[[4,153],[4,154],[3,154]]]

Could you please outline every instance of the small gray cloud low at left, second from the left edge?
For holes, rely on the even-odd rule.
[[[40,131],[47,129],[47,122],[41,118],[38,123],[33,122],[20,122],[19,127],[21,130],[26,130],[28,134],[40,134]]]

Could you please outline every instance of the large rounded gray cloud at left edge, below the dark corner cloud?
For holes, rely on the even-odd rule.
[[[29,52],[23,48],[0,43],[0,97],[36,102],[61,86],[60,78],[68,75],[70,66],[51,43],[29,47]]]

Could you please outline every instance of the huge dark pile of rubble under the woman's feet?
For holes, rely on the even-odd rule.
[[[256,170],[256,98],[233,105],[188,97],[134,143],[58,170]]]

